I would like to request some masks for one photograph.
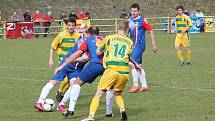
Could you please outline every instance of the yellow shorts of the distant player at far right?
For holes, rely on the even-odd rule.
[[[175,39],[175,46],[189,47],[190,46],[190,37],[188,33],[184,35],[177,33]]]

